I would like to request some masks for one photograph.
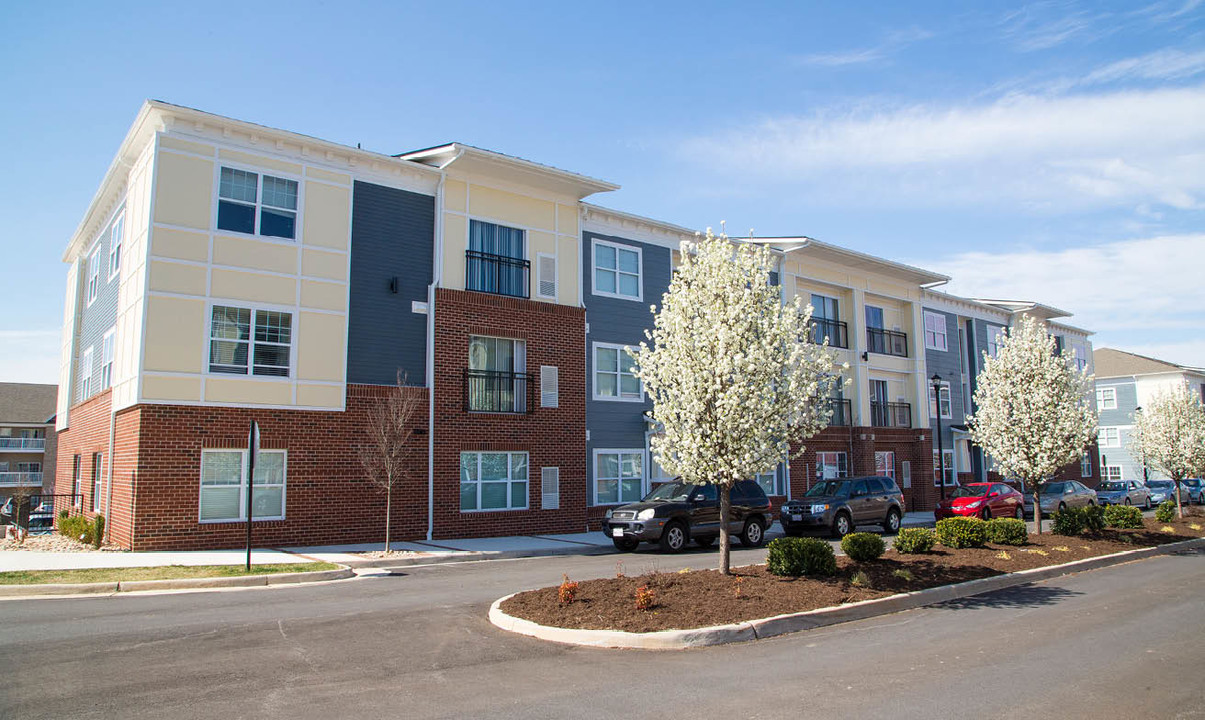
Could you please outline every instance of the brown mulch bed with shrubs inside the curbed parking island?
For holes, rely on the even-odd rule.
[[[1193,524],[1205,527],[1205,518],[1186,517],[1166,524],[1147,519],[1144,530],[1105,530],[1078,537],[1030,535],[1029,544],[1022,547],[988,544],[952,550],[935,545],[923,555],[901,555],[888,549],[870,562],[837,556],[837,573],[831,578],[780,578],[766,572],[764,565],[734,568],[730,577],[713,569],[653,569],[635,577],[582,580],[570,604],[560,604],[558,586],[553,585],[521,592],[504,602],[501,609],[540,625],[582,630],[653,632],[706,627],[1205,537],[1205,530],[1192,529]],[[1163,531],[1165,526],[1174,532]],[[858,572],[865,578],[856,583]],[[652,608],[636,609],[639,588],[653,591]]]

